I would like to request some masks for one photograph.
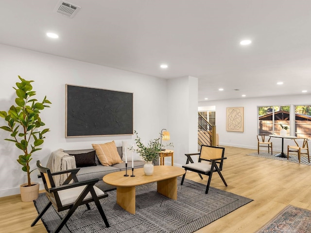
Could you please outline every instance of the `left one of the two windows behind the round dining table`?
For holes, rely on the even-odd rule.
[[[259,106],[258,107],[258,133],[280,134],[282,126],[290,127],[290,105]],[[287,135],[290,135],[287,130]]]

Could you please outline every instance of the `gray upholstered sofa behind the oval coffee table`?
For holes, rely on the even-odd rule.
[[[64,150],[64,152],[68,154],[80,154],[80,153],[86,153],[93,151],[94,149],[86,149],[86,150]],[[117,147],[118,153],[120,157],[122,158],[122,147]],[[63,158],[63,160],[69,160],[69,157]],[[64,161],[63,161],[64,162]],[[95,162],[97,166],[86,166],[86,167],[79,167],[80,170],[77,173],[77,178],[79,181],[86,181],[89,179],[98,178],[100,181],[95,184],[95,186],[99,187],[103,191],[107,191],[110,189],[116,188],[115,186],[109,185],[107,183],[104,183],[103,177],[109,173],[117,172],[117,171],[124,171],[125,174],[125,163],[121,164],[115,164],[112,166],[103,166],[99,162],[97,156],[95,156]],[[145,161],[134,161],[134,174],[135,174],[135,168],[143,167],[145,164]],[[158,165],[158,160],[154,161],[155,165]],[[132,161],[128,161],[127,164],[127,174],[132,174]]]

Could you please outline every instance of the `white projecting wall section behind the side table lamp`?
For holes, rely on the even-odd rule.
[[[181,77],[168,80],[167,128],[174,140],[174,166],[186,163],[185,153],[198,150],[198,79]],[[171,165],[169,159],[166,165]]]

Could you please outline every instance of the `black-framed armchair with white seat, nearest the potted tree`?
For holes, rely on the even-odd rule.
[[[95,202],[106,227],[109,227],[108,220],[99,201],[102,198],[108,197],[108,194],[104,193],[101,189],[94,186],[94,184],[97,183],[99,179],[79,182],[76,174],[78,173],[80,168],[51,172],[49,168],[41,166],[39,160],[37,161],[37,168],[42,177],[46,195],[50,201],[44,207],[42,212],[35,218],[35,221],[31,224],[32,227],[35,226],[37,221],[44,215],[44,213],[49,209],[51,205],[55,207],[57,212],[69,209],[67,214],[63,217],[61,223],[54,231],[54,233],[58,233],[79,205],[86,204],[87,209],[90,210],[88,203],[91,201]],[[55,187],[52,176],[64,173],[70,174],[61,186]],[[70,183],[71,180],[73,180],[74,183]]]

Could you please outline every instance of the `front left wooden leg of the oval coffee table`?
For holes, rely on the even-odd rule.
[[[133,187],[117,187],[117,203],[124,210],[135,215],[136,193]]]

